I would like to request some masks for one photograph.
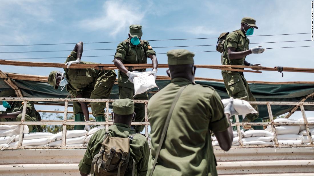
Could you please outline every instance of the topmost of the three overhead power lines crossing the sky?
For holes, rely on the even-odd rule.
[[[310,34],[310,33],[290,33],[290,34],[272,34],[272,35],[252,35],[249,37],[260,37],[260,36],[277,36],[277,35],[299,35],[299,34]],[[196,40],[196,39],[211,39],[218,37],[209,37],[209,38],[178,38],[178,39],[160,39],[160,40],[148,40],[148,41],[169,41],[169,40]],[[121,42],[121,41],[120,41]],[[120,42],[84,42],[85,44],[91,43],[120,43]],[[38,46],[38,45],[68,45],[76,43],[46,43],[46,44],[22,44],[22,45],[0,45],[0,47],[13,47],[13,46]]]

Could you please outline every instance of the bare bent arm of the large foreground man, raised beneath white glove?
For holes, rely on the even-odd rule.
[[[233,133],[232,133],[232,127],[230,124],[230,115],[228,113],[226,113],[225,115],[226,115],[226,118],[228,119],[229,127],[225,131],[214,132],[214,134],[217,138],[220,148],[225,151],[228,151],[232,145]]]

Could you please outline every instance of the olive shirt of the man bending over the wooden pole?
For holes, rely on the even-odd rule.
[[[64,63],[69,61],[75,61],[77,59],[77,53],[72,51]],[[81,63],[93,63],[93,62],[81,62]],[[74,97],[83,93],[83,90],[87,87],[94,88],[95,82],[101,79],[101,70],[94,68],[64,68],[65,76],[68,79],[68,84],[66,89],[68,93],[72,94]],[[89,98],[89,97],[88,97]]]

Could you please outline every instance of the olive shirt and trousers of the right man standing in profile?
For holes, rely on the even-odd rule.
[[[228,49],[229,47],[236,48],[236,52],[246,51],[249,49],[250,40],[242,33],[242,31],[236,30],[228,34],[225,40],[225,51],[222,54],[222,64],[223,65],[244,65],[244,60],[246,57],[241,59],[229,59],[228,58]],[[244,69],[244,68],[237,68]],[[222,77],[224,79],[225,87],[227,93],[230,97],[242,99],[246,101],[256,101],[253,94],[250,91],[249,84],[244,78],[243,72],[235,72],[235,71],[226,71],[222,70]],[[257,105],[252,105],[258,112]],[[261,122],[261,119],[258,118],[257,114],[247,114],[246,118],[251,122]],[[239,117],[240,122],[242,122],[243,118]],[[235,122],[235,118],[233,119]],[[255,129],[260,129],[263,126],[254,126]]]

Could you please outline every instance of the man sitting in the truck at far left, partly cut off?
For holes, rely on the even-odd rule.
[[[0,97],[16,97],[13,89],[1,91]],[[7,108],[5,111],[0,111],[1,122],[20,122],[22,119],[23,102],[22,101],[2,101],[3,107]],[[41,121],[40,114],[36,111],[33,102],[27,101],[25,122],[39,122]],[[29,132],[42,132],[40,125],[27,125]]]

